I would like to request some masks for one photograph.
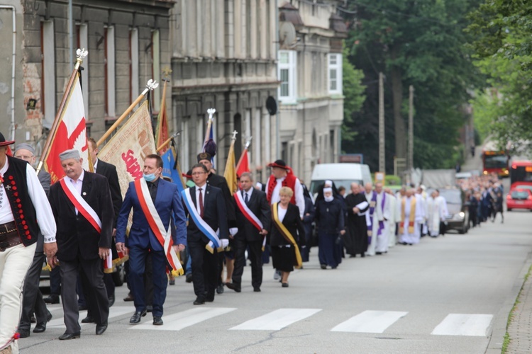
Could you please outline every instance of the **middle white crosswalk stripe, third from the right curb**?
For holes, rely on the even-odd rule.
[[[277,309],[264,316],[245,321],[231,329],[279,331],[320,311],[321,309]]]

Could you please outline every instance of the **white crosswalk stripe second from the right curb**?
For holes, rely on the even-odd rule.
[[[334,332],[383,333],[408,312],[365,311],[331,329]]]

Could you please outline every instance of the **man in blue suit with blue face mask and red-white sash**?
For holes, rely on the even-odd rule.
[[[182,274],[176,252],[187,244],[187,224],[177,185],[160,178],[162,159],[151,154],[144,159],[143,178],[129,183],[116,222],[116,250],[129,253],[129,279],[135,298],[130,324],[146,315],[144,270],[150,253],[153,264],[153,324],[162,325],[162,305],[166,299],[166,270]],[[133,208],[133,224],[126,239],[128,216]],[[176,234],[170,231],[174,218]]]

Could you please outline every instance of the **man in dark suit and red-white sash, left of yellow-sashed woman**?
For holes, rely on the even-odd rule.
[[[237,190],[235,193],[238,226],[238,232],[233,238],[235,270],[233,271],[233,282],[226,283],[226,286],[235,292],[240,292],[245,265],[245,249],[249,247],[251,285],[253,285],[253,291],[260,292],[260,285],[262,284],[262,240],[266,236],[267,230],[270,229],[270,205],[268,205],[266,193],[253,188],[251,173],[242,173],[240,186],[242,190]]]

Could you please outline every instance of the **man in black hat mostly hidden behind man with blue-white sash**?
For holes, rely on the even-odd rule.
[[[236,227],[236,213],[235,213],[235,202],[233,200],[233,196],[231,195],[231,192],[229,191],[229,186],[227,184],[227,180],[223,176],[218,176],[216,173],[213,173],[212,171],[212,162],[211,162],[212,156],[206,152],[201,152],[198,154],[198,164],[204,165],[207,170],[209,171],[209,175],[207,175],[207,183],[209,185],[212,185],[213,187],[220,188],[222,190],[223,199],[226,202],[226,214],[227,214],[227,221],[229,224],[229,234],[231,236],[234,236],[238,232],[238,228]],[[231,279],[232,273],[233,273],[233,258],[226,257],[226,252],[220,252],[218,253],[218,273],[219,273],[219,279],[218,279],[218,287],[216,287],[216,292],[218,294],[223,293],[223,281],[222,281],[222,273],[223,273],[223,260],[226,258],[226,263],[228,266],[228,275],[227,278]],[[194,271],[194,269],[192,269]],[[231,274],[229,274],[231,273]]]

